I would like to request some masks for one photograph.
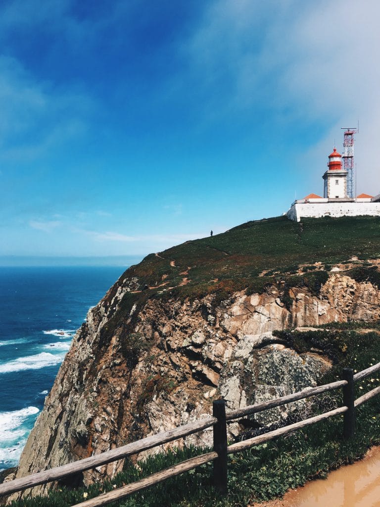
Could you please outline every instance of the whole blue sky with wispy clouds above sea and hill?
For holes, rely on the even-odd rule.
[[[377,194],[377,1],[3,0],[0,256],[145,255],[322,192],[360,119]]]

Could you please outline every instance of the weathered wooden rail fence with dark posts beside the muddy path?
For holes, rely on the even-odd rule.
[[[159,482],[165,481],[170,477],[177,476],[183,472],[192,470],[193,468],[196,468],[197,466],[210,461],[213,461],[213,484],[215,486],[215,489],[223,495],[227,492],[228,454],[244,451],[245,449],[248,449],[252,446],[268,442],[269,440],[272,440],[276,437],[286,435],[292,431],[301,429],[305,426],[314,424],[324,419],[328,419],[329,417],[338,414],[344,415],[344,438],[347,440],[352,438],[355,433],[355,408],[370,400],[376,394],[380,393],[379,386],[363,394],[357,400],[355,400],[354,383],[379,370],[380,363],[377,363],[376,365],[371,366],[366,370],[356,373],[355,375],[352,369],[344,368],[342,380],[331,382],[330,384],[325,384],[318,387],[313,387],[293,394],[288,394],[287,396],[281,396],[280,398],[259,403],[257,405],[250,405],[243,409],[234,410],[227,414],[225,412],[224,400],[217,400],[213,402],[212,417],[207,417],[189,424],[185,424],[183,426],[178,426],[177,428],[170,429],[169,431],[158,433],[151,437],[146,437],[136,442],[132,442],[131,444],[127,444],[123,447],[118,447],[117,449],[112,449],[110,451],[106,451],[89,458],[74,461],[73,463],[67,463],[66,465],[58,466],[56,468],[44,470],[43,472],[39,472],[37,474],[3,483],[0,485],[0,496],[9,495],[17,491],[23,491],[33,486],[63,479],[70,476],[71,474],[84,472],[85,470],[104,465],[111,461],[116,461],[132,454],[137,454],[141,451],[152,449],[167,442],[172,442],[174,440],[184,438],[187,435],[197,433],[198,431],[202,431],[210,427],[213,427],[212,452],[196,456],[195,458],[187,459],[186,461],[182,461],[177,465],[173,465],[162,470],[161,472],[157,472],[132,484],[128,484],[121,488],[112,490],[108,493],[102,493],[95,498],[91,498],[89,500],[76,504],[75,507],[97,507],[98,505],[105,505],[115,500],[121,500],[131,493],[145,489],[153,484],[158,484]],[[343,388],[344,405],[342,407],[330,410],[329,412],[325,412],[314,417],[310,417],[309,419],[305,419],[294,424],[289,424],[274,431],[268,431],[267,433],[261,434],[258,437],[243,440],[230,446],[227,445],[227,422],[339,388]]]

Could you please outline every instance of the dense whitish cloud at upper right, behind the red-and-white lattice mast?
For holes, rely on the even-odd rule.
[[[379,18],[376,1],[315,4],[293,27],[294,64],[282,76],[282,86],[297,101],[302,116],[325,121],[327,135],[311,151],[314,160],[323,154],[321,168],[334,139],[343,149],[340,127],[355,127],[360,120],[355,150],[358,193],[380,189],[375,153],[380,117]]]

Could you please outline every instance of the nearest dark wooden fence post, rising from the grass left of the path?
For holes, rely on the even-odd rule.
[[[212,415],[218,422],[213,427],[214,451],[218,457],[213,463],[213,483],[221,495],[227,493],[227,425],[225,420],[225,401],[212,403]]]

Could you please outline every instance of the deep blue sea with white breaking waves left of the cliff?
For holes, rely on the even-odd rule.
[[[15,466],[75,331],[125,267],[0,267],[0,470]]]

